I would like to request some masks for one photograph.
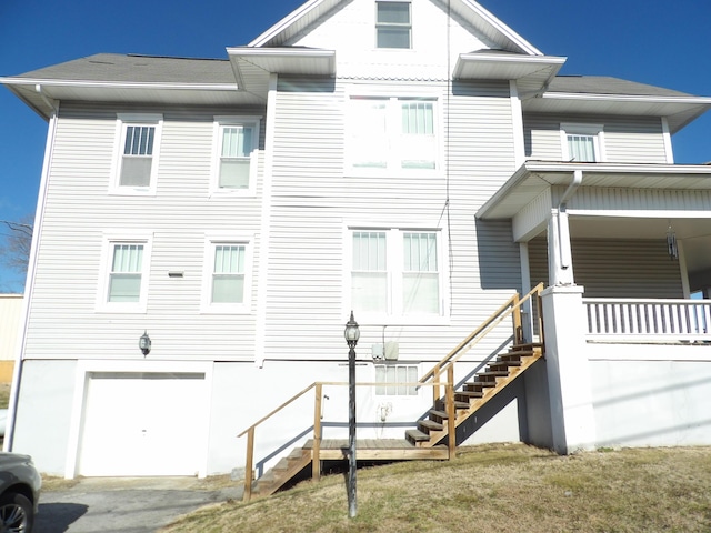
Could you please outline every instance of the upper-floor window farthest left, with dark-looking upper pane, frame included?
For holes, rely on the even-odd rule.
[[[161,125],[161,115],[119,114],[119,150],[116,159],[113,192],[122,194],[154,192]]]

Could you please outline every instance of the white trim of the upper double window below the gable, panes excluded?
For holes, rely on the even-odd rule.
[[[346,169],[348,175],[356,177],[372,177],[372,175],[407,175],[407,177],[433,177],[440,175],[443,168],[443,140],[442,140],[442,109],[441,99],[438,94],[382,94],[382,93],[351,93],[348,94],[348,115],[347,115],[347,149],[346,149]],[[357,139],[360,137],[357,124],[360,122],[359,118],[361,113],[358,110],[358,105],[354,103],[362,100],[378,100],[385,103],[385,139],[388,142],[387,152],[390,158],[385,161],[385,167],[362,167],[358,165],[359,145]],[[403,168],[402,161],[404,152],[402,152],[398,144],[403,138],[401,110],[403,102],[424,101],[432,103],[432,129],[433,129],[433,157],[434,168]],[[393,133],[394,131],[394,133]]]

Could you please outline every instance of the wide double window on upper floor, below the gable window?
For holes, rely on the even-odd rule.
[[[438,168],[437,101],[352,98],[350,162],[353,169]]]

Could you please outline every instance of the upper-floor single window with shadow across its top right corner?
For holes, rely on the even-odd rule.
[[[258,117],[216,117],[216,192],[253,192],[259,143]]]

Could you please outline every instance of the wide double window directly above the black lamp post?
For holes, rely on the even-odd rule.
[[[441,316],[439,231],[351,231],[351,305],[371,318]]]

